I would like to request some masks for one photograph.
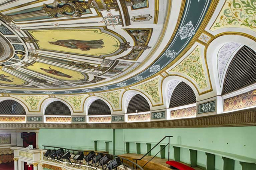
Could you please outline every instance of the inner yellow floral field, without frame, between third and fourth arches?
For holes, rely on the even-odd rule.
[[[112,91],[108,93],[100,93],[98,95],[107,98],[107,100],[109,100],[110,103],[112,104],[113,108],[116,108],[116,109],[120,108],[121,90]]]

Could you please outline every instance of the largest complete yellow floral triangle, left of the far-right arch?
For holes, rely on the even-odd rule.
[[[197,46],[189,56],[171,71],[183,73],[192,78],[200,89],[207,88],[207,79],[204,72],[203,63],[201,61],[201,47]]]

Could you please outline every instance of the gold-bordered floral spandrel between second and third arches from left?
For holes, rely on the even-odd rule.
[[[62,100],[65,100],[67,103],[69,103],[73,109],[73,112],[83,112],[85,100],[87,99],[87,97],[89,97],[89,95],[85,94],[85,95],[56,96],[56,97]]]

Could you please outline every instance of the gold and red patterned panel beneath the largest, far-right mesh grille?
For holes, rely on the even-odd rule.
[[[256,105],[256,90],[224,99],[224,111],[247,108]]]

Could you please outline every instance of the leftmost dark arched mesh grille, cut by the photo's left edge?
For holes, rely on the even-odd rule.
[[[26,114],[26,111],[20,103],[4,100],[0,103],[0,114]]]

